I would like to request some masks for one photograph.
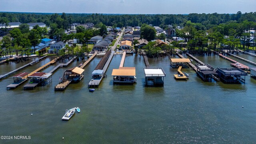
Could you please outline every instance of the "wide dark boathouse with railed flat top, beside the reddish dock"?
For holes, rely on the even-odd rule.
[[[225,83],[239,83],[240,81],[245,83],[245,76],[248,75],[240,68],[217,68],[214,71],[218,74],[220,80]],[[244,78],[241,76],[244,76]]]

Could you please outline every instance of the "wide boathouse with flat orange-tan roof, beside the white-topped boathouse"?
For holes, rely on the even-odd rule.
[[[119,67],[112,71],[113,83],[134,83],[136,82],[135,67]]]

